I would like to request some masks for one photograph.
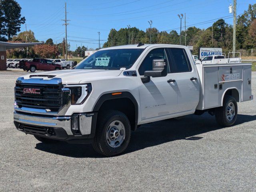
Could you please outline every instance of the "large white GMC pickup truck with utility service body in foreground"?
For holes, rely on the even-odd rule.
[[[108,65],[96,63],[109,58]],[[253,99],[250,63],[195,64],[185,46],[103,48],[72,70],[21,76],[14,124],[40,142],[92,143],[105,156],[127,148],[141,124],[208,112],[232,126]]]

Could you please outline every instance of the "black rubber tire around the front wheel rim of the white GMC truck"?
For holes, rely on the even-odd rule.
[[[124,125],[124,140],[118,147],[111,147],[107,141],[107,131],[114,121],[122,122]],[[120,132],[121,133],[121,132]],[[126,150],[131,138],[131,125],[127,116],[117,110],[110,110],[100,114],[97,120],[96,133],[92,143],[94,150],[104,156],[115,156]]]

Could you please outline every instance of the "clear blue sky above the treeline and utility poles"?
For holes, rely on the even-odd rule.
[[[101,43],[108,38],[111,28],[119,30],[127,25],[146,30],[148,20],[160,31],[175,29],[179,32],[180,20],[177,14],[186,13],[186,25],[208,28],[218,18],[232,24],[228,6],[232,0],[17,0],[26,18],[27,30],[35,33],[36,39],[46,41],[52,38],[59,43],[65,36],[64,7],[67,4],[69,21],[68,42],[70,50],[76,45],[98,47],[98,32]],[[248,4],[256,0],[237,0],[237,14],[247,10]],[[208,21],[208,22],[205,22]],[[203,22],[203,23],[202,23]],[[184,29],[184,19],[182,20]],[[21,31],[25,30],[25,24]],[[169,31],[168,31],[169,32]],[[77,41],[77,42],[74,42]]]

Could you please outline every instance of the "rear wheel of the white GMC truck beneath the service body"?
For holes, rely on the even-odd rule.
[[[230,107],[231,108],[233,107],[233,109],[230,110]],[[236,122],[237,110],[238,108],[237,108],[237,102],[235,98],[230,95],[225,96],[223,100],[223,106],[218,107],[215,110],[215,119],[217,123],[220,126],[224,126],[224,127],[232,126]]]

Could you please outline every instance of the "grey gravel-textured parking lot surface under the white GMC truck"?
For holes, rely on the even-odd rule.
[[[230,128],[209,114],[142,125],[125,154],[106,158],[16,130],[15,80],[26,73],[0,72],[0,191],[256,191],[255,100],[238,104]],[[255,82],[253,72],[254,96]]]

